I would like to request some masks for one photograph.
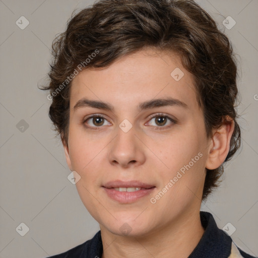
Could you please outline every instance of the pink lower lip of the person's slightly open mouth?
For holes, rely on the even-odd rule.
[[[149,188],[149,189],[142,189],[138,191],[117,191],[114,188],[106,188],[103,187],[111,199],[123,203],[133,203],[139,200],[140,198],[150,195],[150,193],[154,190],[155,187]]]

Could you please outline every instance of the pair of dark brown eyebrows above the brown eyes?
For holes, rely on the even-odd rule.
[[[137,108],[139,111],[142,111],[145,109],[151,109],[151,108],[163,107],[163,106],[179,106],[183,108],[188,108],[188,106],[184,102],[180,101],[179,99],[174,99],[170,97],[148,100],[140,103]],[[97,100],[89,100],[86,98],[83,98],[77,101],[77,103],[74,106],[74,111],[82,107],[93,107],[98,109],[109,110],[112,112],[114,111],[114,107],[110,103],[97,101]]]

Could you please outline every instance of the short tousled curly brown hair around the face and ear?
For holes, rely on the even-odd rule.
[[[234,132],[224,162],[230,160],[241,144],[235,110],[235,54],[227,36],[193,0],[100,0],[72,15],[66,31],[53,40],[50,83],[42,89],[50,90],[49,117],[62,142],[68,143],[70,88],[78,69],[108,67],[144,47],[180,56],[194,78],[207,137],[227,117],[233,119]],[[207,169],[202,200],[219,185],[223,164]]]

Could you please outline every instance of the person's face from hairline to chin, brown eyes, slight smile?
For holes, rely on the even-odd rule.
[[[173,53],[141,50],[73,80],[67,163],[114,234],[147,235],[199,211],[209,144],[193,78]]]

